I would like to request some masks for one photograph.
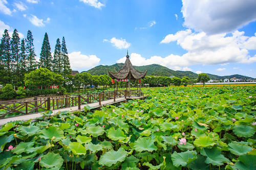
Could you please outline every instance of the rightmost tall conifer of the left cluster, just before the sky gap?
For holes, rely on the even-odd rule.
[[[28,71],[35,70],[37,67],[37,62],[35,60],[35,49],[33,44],[32,32],[29,30],[26,38],[26,53],[28,59]]]

